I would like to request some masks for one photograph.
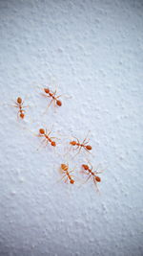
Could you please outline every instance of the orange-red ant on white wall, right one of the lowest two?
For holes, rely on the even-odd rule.
[[[97,172],[97,171],[92,172],[92,165],[91,165],[91,168],[90,168],[89,165],[83,164],[82,168],[83,168],[82,173],[84,173],[86,175],[89,175],[86,182],[92,177],[93,182],[94,182],[94,184],[96,186],[96,189],[98,191],[97,182],[101,182],[101,178],[98,176],[98,174],[101,174],[102,172]]]

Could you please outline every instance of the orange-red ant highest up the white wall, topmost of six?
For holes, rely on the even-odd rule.
[[[61,106],[62,102],[58,100],[58,98],[60,98],[62,95],[59,96],[55,96],[56,95],[56,90],[54,92],[51,92],[51,90],[49,88],[43,88],[45,93],[42,93],[42,96],[46,97],[46,98],[51,98],[51,102],[48,105],[48,107],[51,105],[51,103],[53,102],[53,105],[56,106]]]

